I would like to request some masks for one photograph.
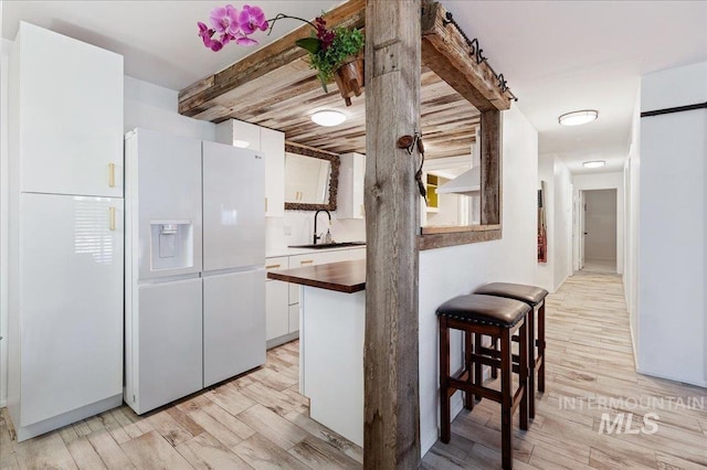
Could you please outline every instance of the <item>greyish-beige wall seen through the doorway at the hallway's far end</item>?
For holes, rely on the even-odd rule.
[[[616,191],[584,191],[585,259],[616,261]]]

